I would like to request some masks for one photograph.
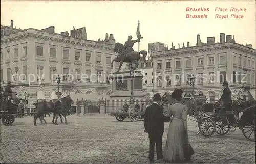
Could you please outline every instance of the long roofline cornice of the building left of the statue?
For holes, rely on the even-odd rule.
[[[7,39],[2,38],[1,39],[1,44],[5,44],[5,43],[8,43],[8,42],[13,42],[13,41],[18,41],[18,40],[23,40],[23,39],[26,39],[26,38],[36,38],[36,39],[50,40],[50,41],[74,44],[74,45],[77,45],[77,46],[90,47],[90,48],[93,48],[93,49],[100,49],[100,50],[108,50],[108,51],[113,51],[114,50],[114,48],[106,47],[106,46],[103,46],[103,45],[93,45],[93,44],[88,44],[88,43],[72,41],[72,40],[69,40],[69,39],[54,38],[54,37],[50,37],[50,36],[38,35],[38,34],[33,34],[33,33],[26,33],[24,35],[19,35],[19,36],[15,36],[15,37],[12,37],[12,38],[7,38]]]

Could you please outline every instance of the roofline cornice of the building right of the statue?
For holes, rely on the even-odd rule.
[[[233,43],[232,43],[233,44]],[[182,56],[186,54],[197,54],[197,53],[210,53],[213,51],[221,51],[225,49],[234,49],[240,52],[246,52],[256,56],[256,50],[246,49],[242,46],[236,45],[225,45],[225,46],[218,46],[218,47],[191,47],[185,49],[175,49],[169,51],[160,51],[160,52],[153,52],[152,58],[165,58],[165,57],[172,57],[172,56]],[[155,53],[155,54],[154,54]]]

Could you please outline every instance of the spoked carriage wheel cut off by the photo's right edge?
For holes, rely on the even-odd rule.
[[[244,121],[242,133],[244,134],[246,139],[255,142],[255,119],[252,121],[252,124]]]

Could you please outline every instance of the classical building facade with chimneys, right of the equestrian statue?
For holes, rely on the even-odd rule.
[[[192,90],[195,76],[196,94],[205,95],[208,102],[219,100],[222,83],[227,80],[233,98],[245,96],[248,90],[255,92],[256,50],[251,45],[241,45],[231,35],[220,34],[220,43],[208,37],[202,43],[197,35],[196,46],[183,46],[153,52],[154,91],[172,92],[182,88]]]

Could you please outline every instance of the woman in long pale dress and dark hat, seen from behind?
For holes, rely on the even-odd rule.
[[[164,160],[170,163],[190,161],[194,154],[193,148],[188,142],[187,134],[187,106],[180,103],[183,91],[180,89],[172,93],[175,103],[168,108],[169,117],[172,120],[169,124],[165,149]]]

